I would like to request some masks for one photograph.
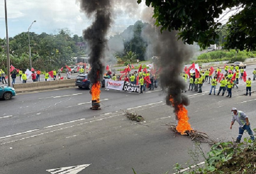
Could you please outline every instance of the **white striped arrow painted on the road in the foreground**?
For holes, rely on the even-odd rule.
[[[91,164],[84,164],[84,165],[63,167],[63,168],[54,168],[54,169],[48,169],[46,171],[50,172],[51,174],[77,174],[78,172],[87,168],[89,165]]]

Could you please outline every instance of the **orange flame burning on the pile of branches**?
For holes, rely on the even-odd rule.
[[[172,106],[174,106],[173,98],[170,96],[170,102]],[[191,131],[193,130],[188,122],[188,110],[183,106],[183,104],[178,105],[178,111],[175,112],[177,118],[178,118],[178,125],[176,127],[176,130],[181,133],[182,135],[185,134],[185,131]]]

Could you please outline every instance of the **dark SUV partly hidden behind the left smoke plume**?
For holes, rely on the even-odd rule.
[[[75,86],[79,87],[80,89],[86,88],[91,89],[92,83],[88,79],[88,74],[80,74],[75,79]],[[101,87],[105,87],[105,78],[101,81]]]

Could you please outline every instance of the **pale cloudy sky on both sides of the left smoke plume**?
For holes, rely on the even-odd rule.
[[[137,0],[115,0],[114,23],[109,35],[126,29],[141,19],[141,12],[147,8]],[[93,19],[80,11],[77,0],[7,0],[9,37],[27,31],[31,23],[31,32],[56,33],[57,29],[68,28],[73,34],[82,35]],[[0,1],[0,38],[6,35],[4,0]]]

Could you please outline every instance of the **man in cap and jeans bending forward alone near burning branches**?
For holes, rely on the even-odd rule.
[[[232,126],[235,121],[237,121],[239,124],[239,133],[238,133],[238,137],[236,138],[236,143],[241,142],[241,138],[242,138],[245,130],[250,135],[251,140],[254,141],[255,138],[254,138],[253,132],[250,128],[250,122],[249,122],[248,116],[243,111],[237,110],[236,108],[232,108],[231,111],[233,114],[232,114],[232,121],[231,121],[230,129],[232,129]]]

